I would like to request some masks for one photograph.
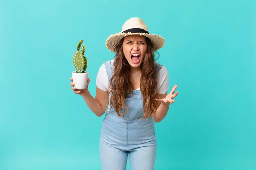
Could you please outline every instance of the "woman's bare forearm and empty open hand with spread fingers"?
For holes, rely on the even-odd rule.
[[[172,91],[168,95],[166,92],[165,94],[159,95],[160,99],[156,99],[158,102],[160,102],[160,106],[157,108],[157,111],[152,114],[152,118],[154,119],[154,122],[158,123],[161,120],[163,120],[163,118],[165,118],[165,116],[168,112],[170,103],[175,102],[175,100],[173,100],[173,99],[179,93],[178,91],[176,93],[174,93],[177,87],[178,87],[178,85],[173,86]]]

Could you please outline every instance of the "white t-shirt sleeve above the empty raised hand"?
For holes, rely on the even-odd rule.
[[[168,71],[165,66],[162,66],[157,75],[158,80],[158,94],[164,94],[168,91],[169,87],[169,77]]]

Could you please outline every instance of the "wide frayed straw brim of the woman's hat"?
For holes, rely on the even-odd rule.
[[[161,37],[160,35],[147,34],[147,33],[121,33],[120,32],[120,33],[112,34],[111,36],[108,37],[108,39],[106,40],[106,47],[110,51],[115,52],[116,45],[118,45],[118,43],[123,37],[126,37],[128,35],[141,35],[141,36],[148,37],[151,40],[155,51],[162,48],[165,44],[164,38]]]

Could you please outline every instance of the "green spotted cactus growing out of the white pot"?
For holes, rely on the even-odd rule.
[[[84,56],[85,45],[82,45],[83,42],[84,42],[84,40],[79,41],[77,48],[76,48],[77,51],[73,57],[73,64],[76,68],[76,73],[85,73],[85,70],[87,68],[87,59]],[[79,51],[81,45],[82,45],[82,52]]]

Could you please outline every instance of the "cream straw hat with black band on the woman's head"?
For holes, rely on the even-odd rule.
[[[158,50],[163,47],[165,41],[164,38],[159,35],[149,34],[148,26],[145,22],[140,18],[130,18],[125,21],[124,25],[122,26],[122,30],[119,33],[112,34],[106,40],[106,47],[115,52],[115,47],[119,43],[119,41],[128,35],[143,35],[148,37],[154,47],[154,50]]]

